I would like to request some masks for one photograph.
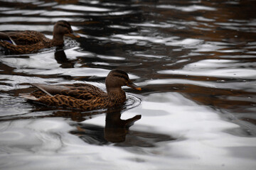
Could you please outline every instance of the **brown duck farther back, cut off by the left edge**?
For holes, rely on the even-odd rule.
[[[35,30],[0,32],[0,46],[14,54],[38,52],[43,48],[63,45],[64,35],[75,35],[67,21],[58,21],[53,28],[53,39],[46,38],[43,33]]]

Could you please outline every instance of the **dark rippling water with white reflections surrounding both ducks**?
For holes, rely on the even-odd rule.
[[[0,30],[69,21],[63,49],[0,57],[0,169],[255,169],[256,1],[0,1]],[[30,83],[105,89],[114,111],[28,103]]]

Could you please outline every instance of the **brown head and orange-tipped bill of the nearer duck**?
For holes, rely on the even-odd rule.
[[[126,72],[121,69],[113,69],[106,77],[106,87],[107,93],[110,91],[119,91],[122,86],[129,86],[132,89],[141,91],[142,88],[138,87],[136,84],[129,79],[129,76]]]

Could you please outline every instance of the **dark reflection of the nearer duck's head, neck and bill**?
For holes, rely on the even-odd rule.
[[[124,142],[129,127],[142,118],[142,115],[135,115],[133,118],[122,120],[121,113],[109,112],[106,115],[105,140],[109,142]]]

